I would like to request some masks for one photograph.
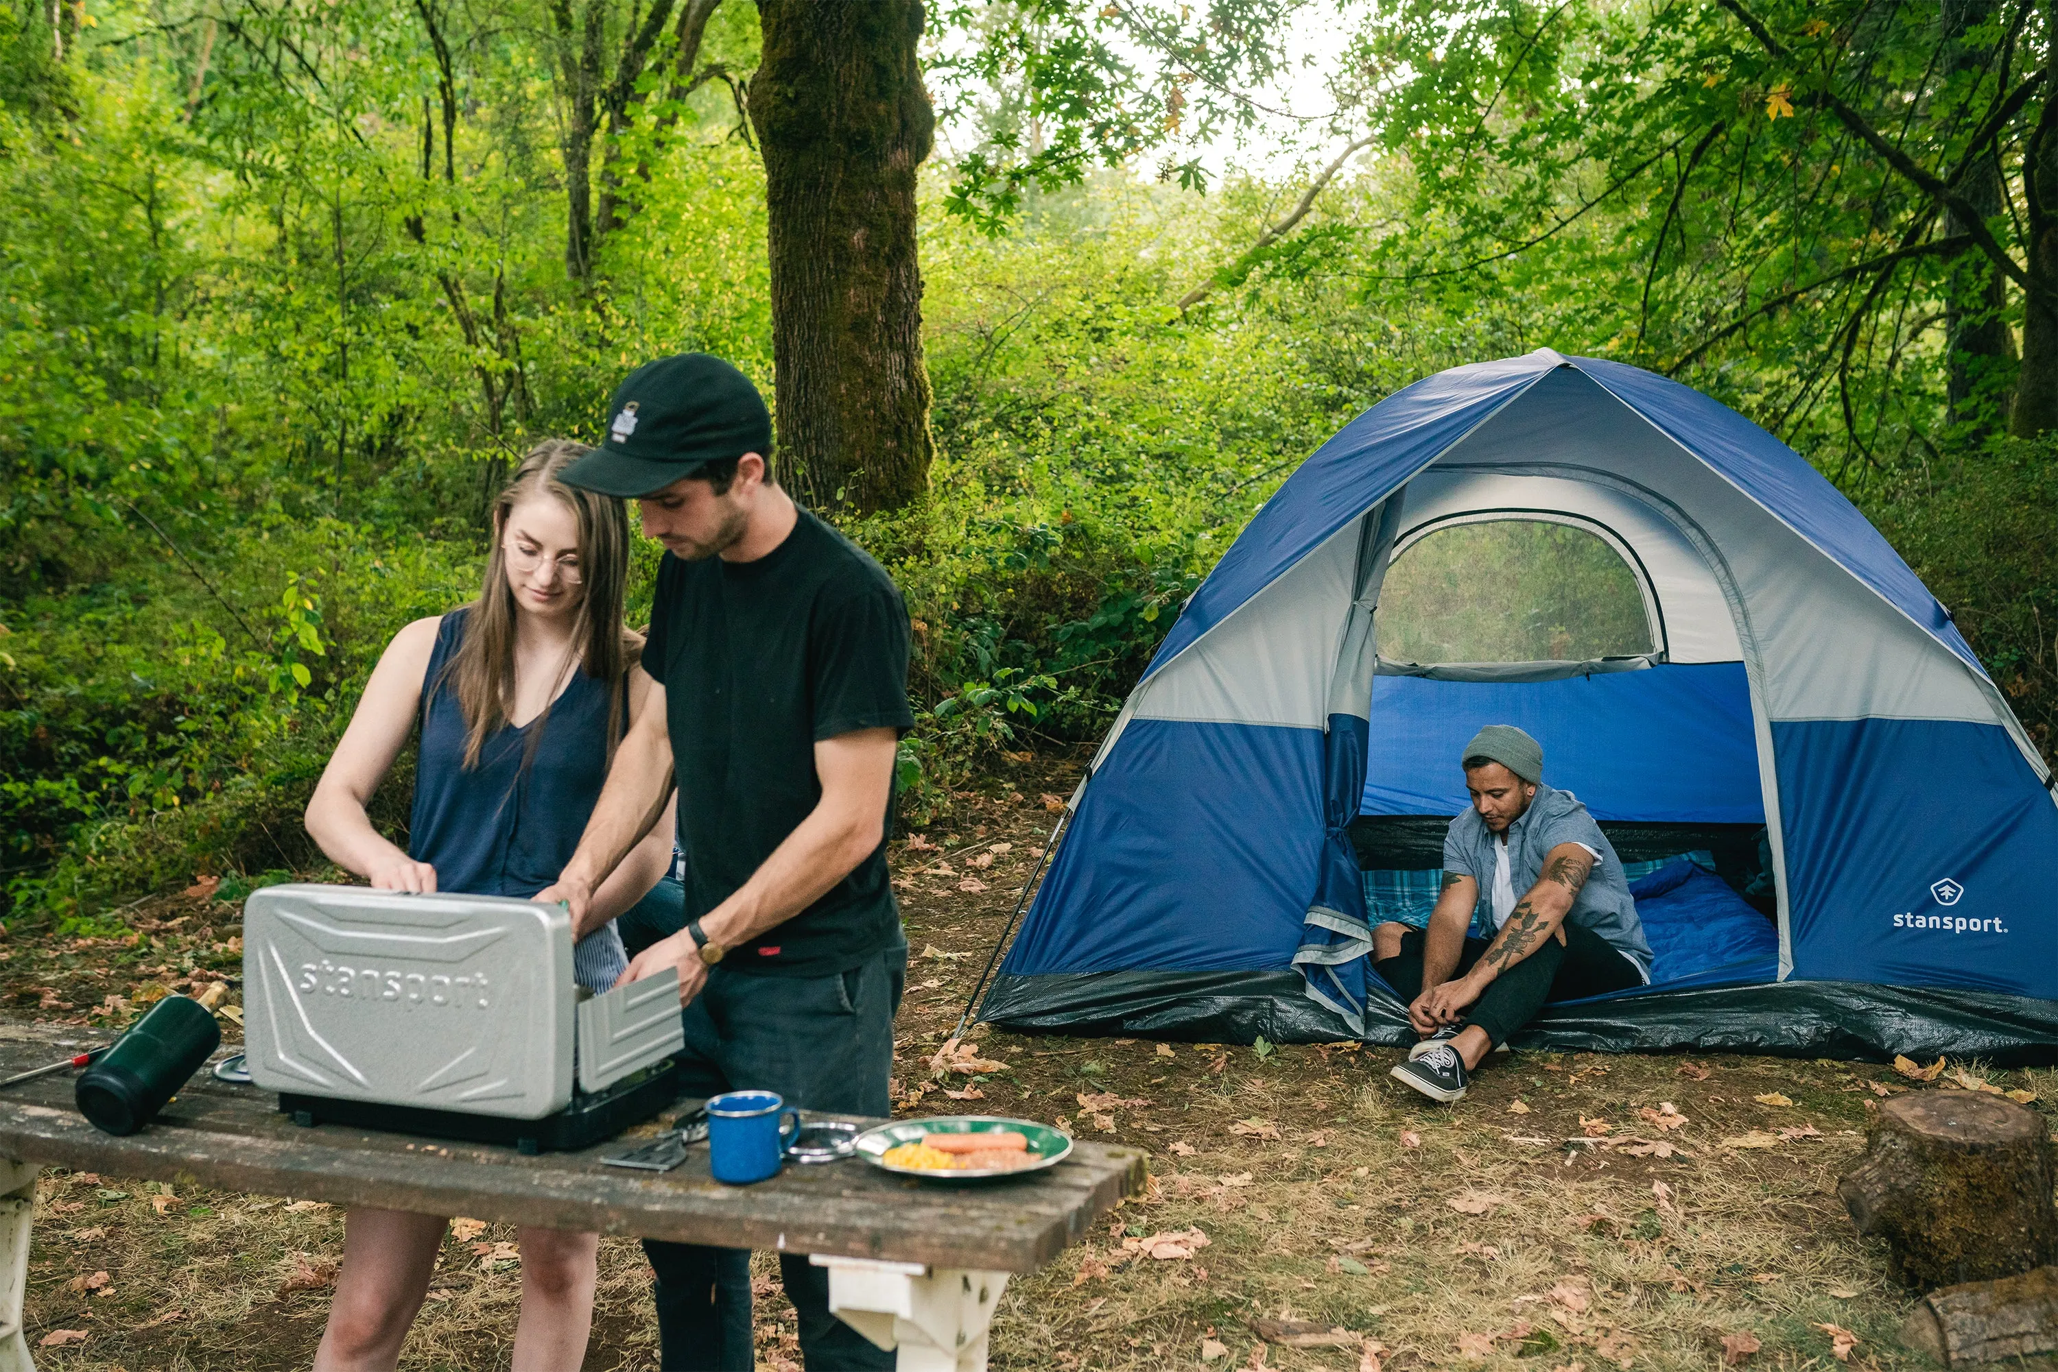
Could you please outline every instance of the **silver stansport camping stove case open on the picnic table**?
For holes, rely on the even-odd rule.
[[[243,909],[251,1082],[296,1115],[484,1138],[436,1125],[539,1121],[648,1080],[685,1043],[677,973],[582,996],[560,905],[288,884]]]

